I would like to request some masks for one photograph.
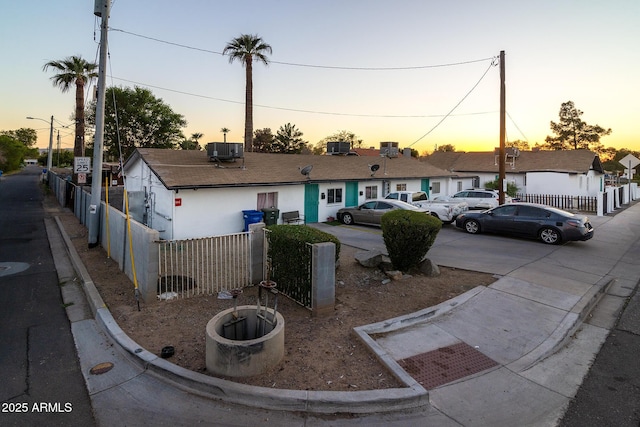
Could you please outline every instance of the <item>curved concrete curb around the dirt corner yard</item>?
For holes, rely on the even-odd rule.
[[[429,404],[428,392],[412,378],[407,384],[407,374],[404,371],[399,379],[408,385],[407,388],[363,391],[287,390],[249,386],[210,377],[162,359],[142,348],[120,328],[96,289],[60,219],[55,217],[55,220],[96,323],[132,363],[145,369],[145,373],[188,393],[262,409],[318,414],[373,414],[415,409]],[[397,372],[393,373],[397,375]]]

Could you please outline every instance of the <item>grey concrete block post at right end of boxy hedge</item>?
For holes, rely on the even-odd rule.
[[[311,259],[312,314],[330,314],[336,301],[336,245],[331,242],[312,245]]]

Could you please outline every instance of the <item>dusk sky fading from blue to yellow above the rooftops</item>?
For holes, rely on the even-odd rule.
[[[93,5],[0,0],[0,130],[37,129],[46,147],[53,115],[61,146],[73,146],[73,126],[59,123],[72,121],[74,91],[53,87],[42,67],[97,62]],[[507,141],[543,143],[573,101],[582,120],[612,129],[605,146],[640,150],[638,22],[637,0],[115,0],[107,84],[150,89],[201,144],[221,141],[223,127],[241,142],[244,68],[221,52],[257,34],[273,54],[254,64],[254,130],[291,123],[313,144],[347,130],[364,147],[489,151],[504,50]]]

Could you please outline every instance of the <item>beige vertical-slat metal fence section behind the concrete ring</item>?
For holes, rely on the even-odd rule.
[[[249,286],[250,234],[158,242],[159,297],[212,295]]]

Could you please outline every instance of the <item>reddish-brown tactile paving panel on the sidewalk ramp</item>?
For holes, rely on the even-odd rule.
[[[417,354],[398,363],[427,390],[498,365],[465,343]]]

